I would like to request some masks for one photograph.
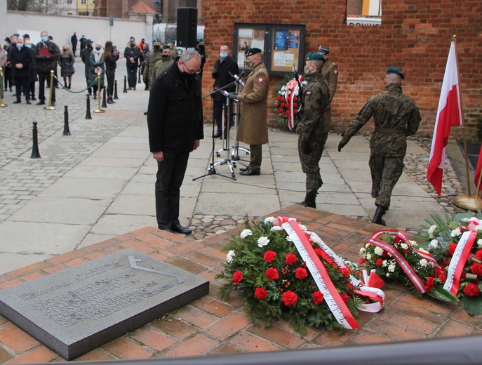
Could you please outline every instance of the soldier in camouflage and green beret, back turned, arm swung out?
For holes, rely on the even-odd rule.
[[[350,138],[373,117],[375,131],[370,139],[370,171],[372,197],[377,209],[373,223],[385,225],[382,216],[390,206],[391,191],[403,172],[403,157],[407,136],[414,135],[420,126],[420,112],[412,98],[404,95],[401,81],[405,77],[396,67],[387,69],[385,91],[368,99],[349,125],[338,144],[340,152]]]

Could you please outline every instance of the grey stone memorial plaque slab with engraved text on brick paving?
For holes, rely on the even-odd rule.
[[[127,248],[0,291],[0,313],[70,360],[208,293],[208,280]]]

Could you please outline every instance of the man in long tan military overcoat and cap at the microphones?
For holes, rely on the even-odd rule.
[[[262,145],[268,143],[269,76],[260,48],[250,48],[244,55],[248,67],[253,70],[246,78],[243,92],[239,95],[229,93],[229,98],[243,102],[237,140],[248,143],[250,162],[248,167],[239,169],[239,175],[251,176],[260,175]]]

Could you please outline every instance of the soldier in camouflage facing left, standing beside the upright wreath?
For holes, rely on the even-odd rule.
[[[316,194],[323,185],[319,161],[328,138],[325,112],[330,107],[330,91],[321,68],[325,58],[320,53],[308,53],[304,67],[302,119],[296,128],[301,168],[306,173],[306,197],[300,204],[316,208]]]

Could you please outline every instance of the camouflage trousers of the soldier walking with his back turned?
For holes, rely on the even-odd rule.
[[[403,173],[403,157],[383,157],[370,153],[370,172],[372,174],[372,197],[375,205],[390,207],[391,192]]]

